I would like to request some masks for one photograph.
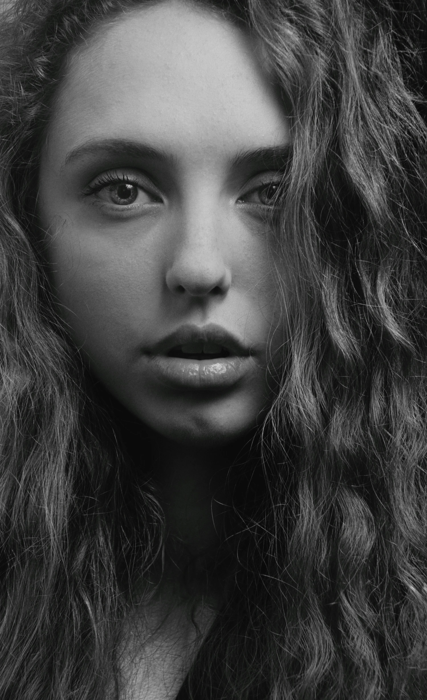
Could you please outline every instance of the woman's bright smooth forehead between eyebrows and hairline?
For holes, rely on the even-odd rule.
[[[229,20],[179,0],[105,22],[69,57],[49,148],[63,155],[92,139],[143,139],[179,156],[191,141],[209,158],[286,141],[261,55]]]

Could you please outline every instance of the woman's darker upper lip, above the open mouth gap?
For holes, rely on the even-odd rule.
[[[149,349],[150,355],[167,355],[172,348],[187,343],[197,342],[212,342],[226,348],[231,355],[246,355],[250,354],[248,348],[245,348],[238,338],[232,335],[228,330],[221,328],[220,325],[209,323],[208,325],[198,326],[193,324],[182,325],[174,332],[162,338],[158,343],[151,346]]]

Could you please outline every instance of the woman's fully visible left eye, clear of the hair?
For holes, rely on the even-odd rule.
[[[142,174],[118,174],[107,172],[88,185],[84,194],[95,195],[97,200],[118,207],[130,204],[153,204],[163,202],[154,190],[154,185]]]

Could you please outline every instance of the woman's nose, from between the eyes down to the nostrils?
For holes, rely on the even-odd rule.
[[[166,272],[168,289],[191,297],[225,295],[231,286],[231,269],[224,260],[222,227],[206,209],[183,218],[173,236],[173,259]]]

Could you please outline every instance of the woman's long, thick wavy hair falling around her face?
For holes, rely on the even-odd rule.
[[[1,20],[0,696],[8,700],[118,696],[121,620],[133,582],[149,576],[163,547],[161,508],[141,477],[149,453],[147,470],[135,470],[55,317],[35,213],[39,151],[69,51],[96,22],[144,1],[16,0]],[[259,435],[262,489],[239,514],[231,584],[188,692],[419,699],[427,692],[421,15],[388,0],[191,1],[262,38],[290,110],[292,153],[271,235],[287,342]],[[243,470],[240,489],[245,479]]]

